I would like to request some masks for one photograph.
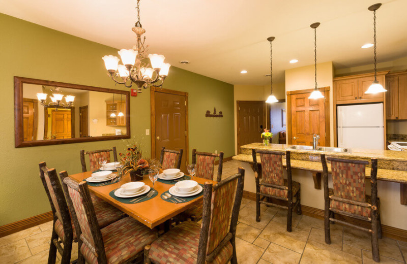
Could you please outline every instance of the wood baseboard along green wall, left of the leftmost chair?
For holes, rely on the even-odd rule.
[[[0,238],[24,230],[26,228],[46,223],[48,221],[51,221],[52,219],[53,215],[52,211],[50,211],[14,223],[0,226]]]

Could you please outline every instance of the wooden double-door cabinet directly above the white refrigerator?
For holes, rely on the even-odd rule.
[[[386,72],[377,73],[377,81],[385,86]],[[334,78],[334,100],[337,105],[340,104],[361,104],[383,102],[383,93],[366,94],[365,91],[374,81],[374,74],[359,74],[352,76],[343,76]]]

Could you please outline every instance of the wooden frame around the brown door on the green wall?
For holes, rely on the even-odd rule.
[[[176,94],[185,96],[185,129],[187,130],[187,135],[185,138],[186,149],[184,149],[184,153],[186,155],[185,162],[188,164],[188,157],[189,157],[189,126],[188,126],[188,92],[176,91],[176,90],[169,90],[169,89],[160,89],[158,87],[151,87],[150,90],[150,106],[151,106],[151,157],[157,158],[156,155],[156,120],[155,120],[155,93],[162,92],[162,93],[169,93],[169,94]],[[185,164],[187,166],[187,164]]]

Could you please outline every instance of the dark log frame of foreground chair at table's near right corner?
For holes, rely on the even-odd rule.
[[[207,262],[211,262],[216,255],[220,252],[222,247],[226,245],[227,242],[230,241],[233,247],[232,256],[227,260],[230,261],[232,264],[237,264],[237,256],[236,256],[236,226],[238,224],[239,218],[239,210],[240,205],[242,202],[243,197],[243,187],[244,187],[244,177],[245,177],[245,170],[243,168],[239,168],[239,173],[235,174],[234,176],[230,176],[229,178],[218,182],[217,184],[213,185],[210,182],[206,182],[205,186],[203,186],[203,212],[202,212],[202,225],[199,232],[199,244],[198,244],[198,256],[196,263],[197,264],[204,264]],[[235,196],[235,203],[232,208],[232,217],[230,219],[230,229],[223,240],[218,244],[218,246],[210,253],[207,254],[207,244],[208,244],[208,237],[209,237],[209,227],[211,223],[211,205],[212,205],[212,192],[220,188],[221,186],[225,185],[230,181],[237,180],[237,188],[236,188],[236,196]],[[144,248],[144,263],[150,264],[152,263],[151,259],[149,258],[149,251],[151,246],[147,245]],[[226,262],[227,262],[226,261]]]

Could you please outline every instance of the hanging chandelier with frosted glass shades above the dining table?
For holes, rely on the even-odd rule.
[[[121,49],[118,52],[123,64],[119,64],[120,59],[113,55],[104,56],[102,59],[110,78],[116,83],[129,88],[135,83],[138,92],[141,92],[141,88],[147,89],[150,86],[162,88],[171,65],[164,63],[163,55],[149,54],[147,56],[148,45],[144,46],[146,37],[141,37],[146,30],[140,23],[140,0],[137,0],[136,10],[137,22],[132,30],[137,36],[137,43],[132,49]]]

